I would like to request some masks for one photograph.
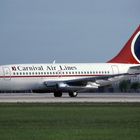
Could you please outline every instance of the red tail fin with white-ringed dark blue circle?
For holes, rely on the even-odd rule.
[[[136,29],[118,55],[108,61],[108,63],[140,63],[140,26]]]

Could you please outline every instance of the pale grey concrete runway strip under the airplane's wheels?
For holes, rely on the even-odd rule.
[[[140,102],[140,93],[79,93],[70,98],[64,93],[61,98],[53,97],[53,93],[0,93],[0,103],[82,103],[82,102]]]

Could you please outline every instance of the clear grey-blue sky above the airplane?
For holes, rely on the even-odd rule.
[[[0,64],[106,62],[140,24],[140,0],[0,0]]]

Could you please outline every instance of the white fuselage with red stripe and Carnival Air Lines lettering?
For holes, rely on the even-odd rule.
[[[0,90],[45,89],[44,82],[127,73],[130,64],[70,63],[0,66]]]

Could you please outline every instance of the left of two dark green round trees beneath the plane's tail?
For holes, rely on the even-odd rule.
[[[119,84],[119,88],[121,92],[127,92],[130,88],[130,81],[129,80],[123,80]]]

